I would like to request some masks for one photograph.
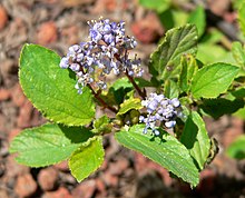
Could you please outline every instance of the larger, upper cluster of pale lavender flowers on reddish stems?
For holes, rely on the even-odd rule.
[[[109,19],[88,22],[90,41],[71,46],[60,67],[76,72],[76,89],[82,92],[86,85],[106,89],[106,76],[127,72],[131,77],[140,77],[144,72],[140,59],[129,58],[128,50],[136,47],[134,37],[125,36],[125,22],[110,22]]]

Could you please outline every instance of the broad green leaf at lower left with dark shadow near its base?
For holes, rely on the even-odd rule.
[[[84,127],[46,123],[23,130],[10,145],[16,160],[30,167],[45,167],[66,160],[92,133]]]

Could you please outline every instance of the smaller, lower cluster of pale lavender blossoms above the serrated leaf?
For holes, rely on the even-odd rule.
[[[166,128],[173,128],[176,125],[176,117],[180,117],[182,108],[177,98],[168,99],[164,95],[150,93],[150,96],[141,101],[148,112],[147,117],[140,116],[139,121],[145,122],[144,133],[148,129],[158,136],[157,126],[164,123]]]

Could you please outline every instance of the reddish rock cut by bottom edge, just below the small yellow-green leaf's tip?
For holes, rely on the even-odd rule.
[[[82,181],[72,190],[74,198],[91,198],[96,191],[96,181],[87,180]]]

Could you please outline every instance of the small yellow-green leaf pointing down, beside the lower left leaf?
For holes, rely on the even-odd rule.
[[[70,157],[69,168],[72,176],[80,182],[101,166],[104,156],[102,138],[90,139]]]

